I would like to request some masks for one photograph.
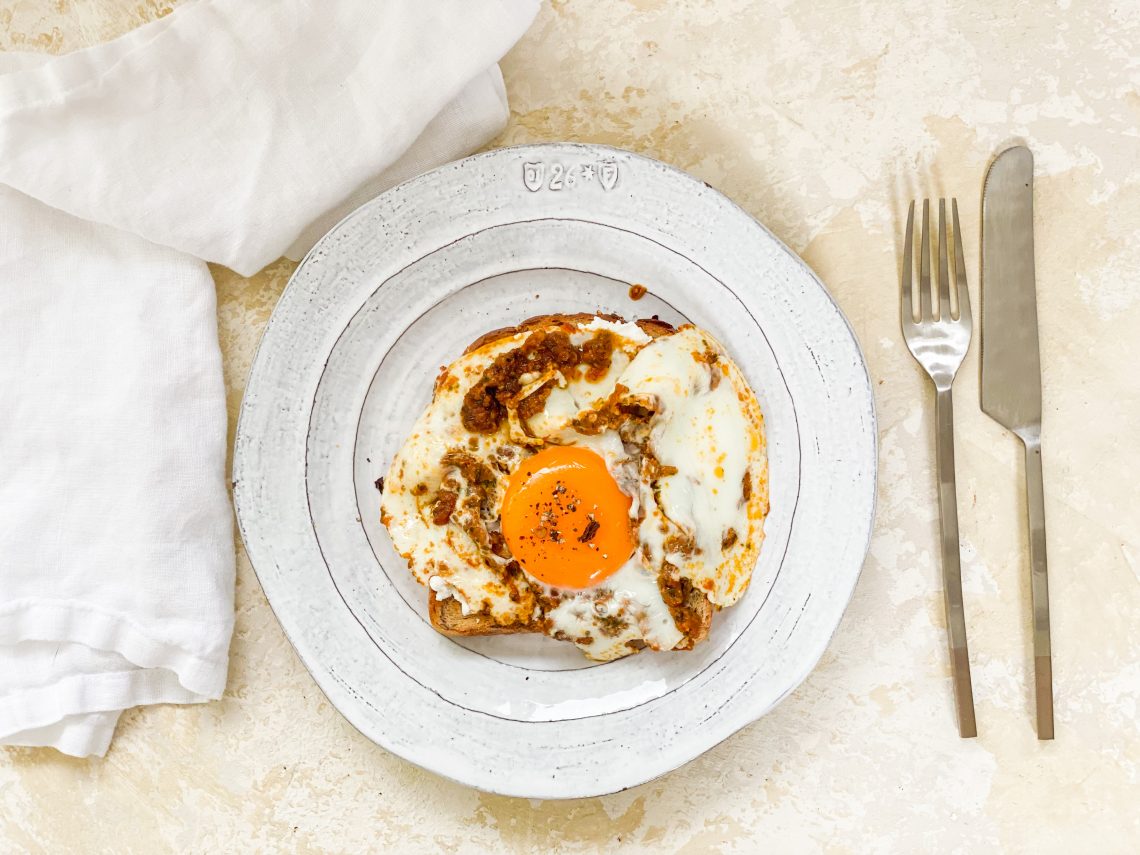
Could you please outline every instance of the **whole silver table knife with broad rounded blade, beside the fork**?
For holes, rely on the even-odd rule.
[[[1053,738],[1045,503],[1041,477],[1041,351],[1033,271],[1033,154],[1007,148],[982,194],[982,409],[1025,445],[1037,739]]]

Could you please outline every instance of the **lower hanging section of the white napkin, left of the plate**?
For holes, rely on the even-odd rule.
[[[226,392],[197,259],[0,186],[0,742],[221,697]]]

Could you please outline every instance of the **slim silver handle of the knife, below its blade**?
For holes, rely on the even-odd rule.
[[[1037,739],[1053,738],[1053,659],[1049,638],[1049,568],[1045,560],[1045,487],[1041,437],[1025,442],[1025,489],[1029,507],[1029,593],[1033,598],[1033,670],[1037,695]]]

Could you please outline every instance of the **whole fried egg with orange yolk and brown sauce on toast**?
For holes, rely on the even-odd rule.
[[[597,660],[692,646],[678,592],[735,603],[766,513],[763,415],[719,343],[588,315],[447,366],[382,500],[434,597]]]

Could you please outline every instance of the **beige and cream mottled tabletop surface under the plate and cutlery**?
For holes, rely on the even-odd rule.
[[[0,0],[0,47],[65,51],[153,0]],[[660,157],[819,271],[862,340],[879,518],[820,667],[773,714],[654,783],[488,797],[357,734],[283,637],[244,555],[229,689],[125,715],[105,760],[0,754],[0,850],[1130,852],[1140,844],[1140,6],[553,0],[504,71],[500,142]],[[956,194],[975,306],[983,170],[1037,154],[1057,733],[1039,744],[1016,440],[960,378],[959,484],[980,736],[954,736],[936,563],[933,401],[897,332],[899,217]],[[215,270],[231,418],[292,266]],[[826,532],[820,532],[825,537]]]

